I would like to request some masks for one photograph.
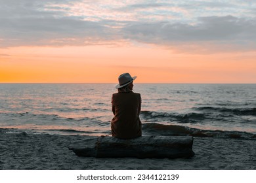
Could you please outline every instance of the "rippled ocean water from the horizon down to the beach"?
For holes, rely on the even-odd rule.
[[[4,133],[111,135],[116,84],[0,84]],[[255,139],[256,84],[136,84],[143,135]]]

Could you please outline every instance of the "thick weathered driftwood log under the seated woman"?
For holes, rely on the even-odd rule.
[[[95,158],[190,158],[193,137],[142,136],[136,139],[117,139],[110,136],[85,139],[73,146],[77,156]]]

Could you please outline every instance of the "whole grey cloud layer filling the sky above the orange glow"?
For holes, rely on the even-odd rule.
[[[150,2],[0,0],[0,47],[135,41],[180,52],[256,49],[249,1]]]

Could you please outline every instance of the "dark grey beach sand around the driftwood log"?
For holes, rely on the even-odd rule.
[[[83,136],[0,133],[0,169],[256,169],[256,139],[194,137],[193,158],[84,158],[68,149]]]

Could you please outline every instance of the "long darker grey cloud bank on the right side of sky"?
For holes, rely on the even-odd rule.
[[[196,42],[198,42],[197,48],[201,44],[204,49],[205,43],[209,44],[209,42],[215,44],[219,42],[220,50],[223,46],[228,46],[228,49],[232,47],[242,50],[256,49],[256,19],[210,16],[198,18],[198,21],[196,25],[134,22],[123,27],[123,32],[125,39],[166,46],[190,47],[190,50],[195,48],[193,45]]]

